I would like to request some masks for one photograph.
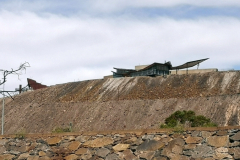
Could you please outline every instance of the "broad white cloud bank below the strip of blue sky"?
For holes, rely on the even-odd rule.
[[[46,85],[102,78],[113,67],[210,58],[201,68],[239,66],[240,21],[229,17],[172,19],[154,17],[86,17],[0,12],[0,68],[31,67],[21,81],[11,76],[14,89],[33,78]]]

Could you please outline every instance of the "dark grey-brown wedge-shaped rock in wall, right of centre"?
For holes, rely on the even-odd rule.
[[[146,140],[137,147],[137,151],[155,151],[165,146],[163,142],[155,140]]]

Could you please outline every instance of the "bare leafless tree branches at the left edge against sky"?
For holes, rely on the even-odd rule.
[[[2,72],[2,81],[0,81],[0,85],[3,85],[4,83],[7,82],[7,76],[9,75],[17,75],[19,79],[19,76],[22,74],[23,71],[26,71],[27,67],[30,67],[30,64],[28,62],[25,62],[23,64],[20,64],[20,66],[17,69],[11,69],[11,70],[0,69],[0,72]],[[10,93],[12,92],[16,92],[16,91],[0,91],[1,94],[8,93],[9,96],[11,96]]]

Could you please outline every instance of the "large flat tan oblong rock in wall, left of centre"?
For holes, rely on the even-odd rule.
[[[104,137],[104,138],[96,138],[94,140],[87,141],[83,144],[83,146],[96,148],[96,147],[103,147],[112,143],[113,143],[112,138]]]

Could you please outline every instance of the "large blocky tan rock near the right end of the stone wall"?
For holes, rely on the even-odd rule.
[[[228,136],[211,136],[208,137],[207,143],[214,147],[225,147],[229,144],[229,137]]]

